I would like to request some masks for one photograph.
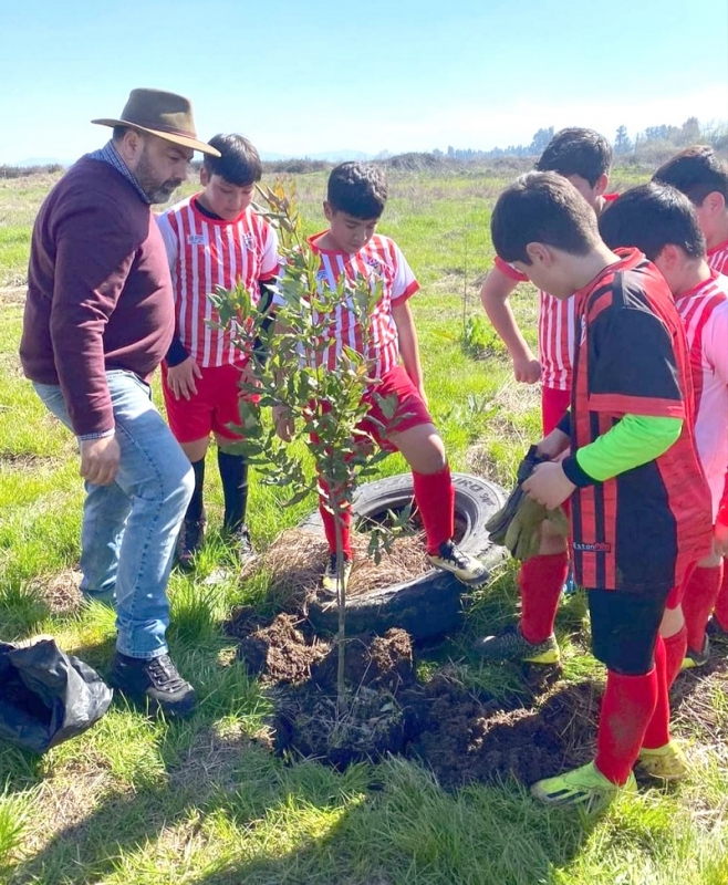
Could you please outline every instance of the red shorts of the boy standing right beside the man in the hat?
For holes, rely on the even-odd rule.
[[[229,425],[240,424],[238,383],[245,363],[200,368],[201,378],[195,378],[197,393],[190,399],[176,399],[167,384],[167,368],[162,364],[162,389],[167,408],[169,428],[178,442],[207,439],[210,433],[240,439]]]

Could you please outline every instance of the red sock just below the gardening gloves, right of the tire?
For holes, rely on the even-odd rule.
[[[521,623],[524,638],[542,643],[553,633],[559,596],[569,574],[569,554],[539,554],[523,562],[518,573],[521,589]]]

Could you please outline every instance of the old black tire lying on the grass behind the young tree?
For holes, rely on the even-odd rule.
[[[468,473],[453,473],[453,485],[456,520],[462,532],[458,546],[490,570],[503,561],[506,550],[491,542],[486,522],[503,506],[507,492],[493,482]],[[366,482],[354,496],[353,519],[403,508],[412,501],[413,494],[412,473]],[[306,517],[300,528],[323,534],[318,510]],[[402,627],[415,639],[448,633],[462,623],[461,595],[466,590],[455,575],[431,569],[412,581],[360,593],[346,600],[346,632],[350,635],[384,633],[391,627]],[[316,631],[335,633],[339,615],[330,601],[314,600],[309,605],[309,620]]]

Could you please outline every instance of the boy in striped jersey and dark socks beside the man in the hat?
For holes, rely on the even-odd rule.
[[[202,487],[210,434],[218,446],[225,498],[223,532],[241,559],[252,553],[246,525],[248,465],[229,447],[238,438],[229,425],[239,421],[239,382],[254,343],[245,330],[216,329],[219,321],[209,293],[238,282],[253,303],[268,302],[267,283],[279,268],[275,231],[251,208],[262,176],[258,152],[240,135],[210,140],[219,158],[200,169],[202,190],[173,206],[158,223],[167,248],[175,290],[176,334],[163,364],[163,389],[169,426],[195,471],[195,491],[177,544],[177,560],[193,565],[206,525]],[[243,347],[236,346],[236,340]]]

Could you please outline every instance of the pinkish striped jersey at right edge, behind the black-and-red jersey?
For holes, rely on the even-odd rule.
[[[728,277],[710,278],[675,299],[690,351],[695,439],[710,486],[714,519],[728,470]]]

